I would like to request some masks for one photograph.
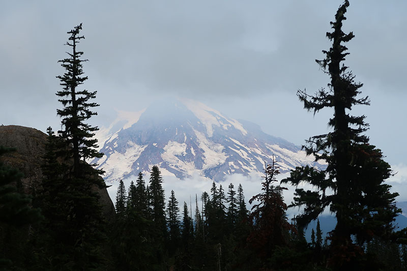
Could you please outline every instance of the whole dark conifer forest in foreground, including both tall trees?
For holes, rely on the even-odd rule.
[[[103,171],[85,162],[102,157],[94,139],[98,128],[86,123],[98,104],[92,102],[96,92],[79,89],[88,79],[82,70],[87,60],[77,48],[82,25],[74,27],[66,43],[71,51],[59,61],[65,73],[57,76],[61,130],[47,129],[41,185],[23,194],[19,170],[0,163],[0,269],[407,270],[407,229],[395,231],[398,194],[385,183],[390,165],[369,144],[365,116],[351,115],[369,99],[359,97],[362,83],[343,64],[349,54],[344,44],[354,38],[342,31],[348,6],[345,1],[336,12],[327,33],[332,46],[316,61],[330,76],[328,88],[297,93],[308,111],[334,111],[332,131],[304,146],[328,166],[290,172],[281,184],[306,183],[313,190],[297,188],[287,205],[278,164],[269,161],[261,192],[247,201],[250,210],[241,185],[215,182],[209,192],[180,203],[176,191],[165,193],[153,166],[149,180],[140,172],[128,188],[120,181],[115,215],[103,215],[95,192],[106,188]],[[0,146],[0,156],[14,151]],[[288,221],[286,210],[295,206],[302,212]],[[335,229],[324,238],[318,221],[308,243],[305,229],[326,209],[336,217]]]

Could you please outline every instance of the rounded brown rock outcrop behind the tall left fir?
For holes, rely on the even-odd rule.
[[[23,126],[0,126],[0,145],[14,147],[16,152],[10,152],[2,157],[1,161],[13,168],[18,168],[24,177],[21,179],[22,190],[32,194],[33,188],[38,187],[42,180],[41,164],[45,152],[47,135],[43,132]],[[114,205],[106,188],[95,187],[103,206],[103,214],[107,219],[114,216]]]

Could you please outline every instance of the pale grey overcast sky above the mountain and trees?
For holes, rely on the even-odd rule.
[[[117,110],[138,111],[154,99],[188,97],[232,118],[252,121],[301,145],[328,131],[326,110],[313,116],[296,97],[329,77],[315,59],[342,1],[6,1],[0,9],[0,123],[59,129],[55,78],[69,50],[66,32],[83,23],[79,44],[85,87],[97,90],[108,125]],[[364,83],[371,106],[370,142],[407,176],[407,2],[351,1],[344,31],[346,65]],[[404,178],[405,179],[405,178]]]

